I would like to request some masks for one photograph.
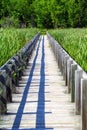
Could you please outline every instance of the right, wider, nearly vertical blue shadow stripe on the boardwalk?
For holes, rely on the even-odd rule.
[[[38,106],[36,116],[36,128],[45,128],[45,62],[44,62],[44,37],[42,41],[42,58],[41,58],[41,69],[40,69],[40,86],[38,93]]]

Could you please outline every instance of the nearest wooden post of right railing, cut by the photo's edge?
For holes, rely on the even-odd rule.
[[[82,130],[87,130],[87,79],[81,79]]]

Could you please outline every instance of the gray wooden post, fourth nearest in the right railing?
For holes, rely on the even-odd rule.
[[[68,85],[68,93],[71,92],[70,88],[70,80],[71,80],[71,64],[73,64],[73,60],[67,60],[67,85]]]

